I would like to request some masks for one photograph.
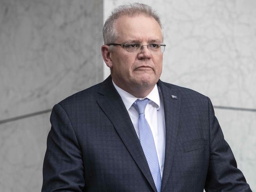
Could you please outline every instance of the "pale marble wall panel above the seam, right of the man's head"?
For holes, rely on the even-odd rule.
[[[161,17],[163,81],[197,90],[214,105],[256,108],[255,0],[105,0],[104,19],[129,2],[148,4]]]

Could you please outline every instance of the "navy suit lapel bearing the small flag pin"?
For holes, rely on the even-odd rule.
[[[166,87],[160,80],[158,85],[163,96],[165,112],[165,161],[161,188],[164,189],[173,164],[173,154],[176,145],[181,96],[175,89]],[[176,96],[176,98],[175,98]]]

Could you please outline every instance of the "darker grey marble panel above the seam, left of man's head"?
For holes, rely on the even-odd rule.
[[[0,0],[0,120],[102,81],[102,0]]]

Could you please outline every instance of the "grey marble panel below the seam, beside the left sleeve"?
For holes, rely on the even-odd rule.
[[[41,191],[49,119],[46,113],[0,125],[1,192]]]

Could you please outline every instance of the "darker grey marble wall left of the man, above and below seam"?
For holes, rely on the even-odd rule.
[[[50,110],[103,79],[102,25],[101,0],[0,0],[0,192],[41,191]]]

